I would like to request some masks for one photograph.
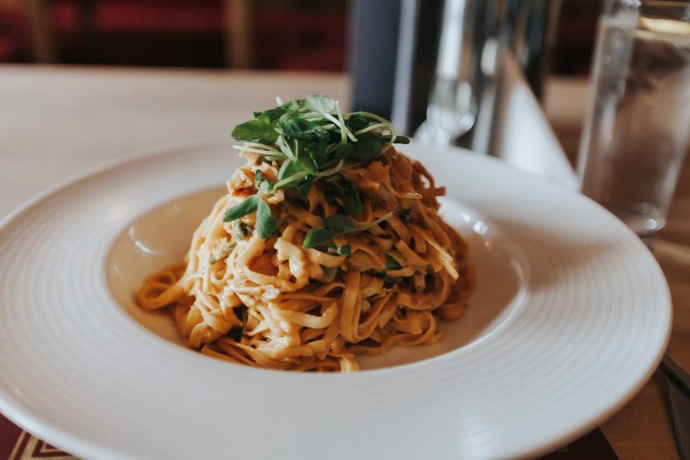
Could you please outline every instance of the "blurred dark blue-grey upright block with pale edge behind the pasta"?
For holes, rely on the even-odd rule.
[[[351,0],[350,71],[354,110],[424,120],[433,77],[442,0]]]

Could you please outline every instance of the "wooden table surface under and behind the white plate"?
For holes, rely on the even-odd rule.
[[[555,81],[547,112],[574,151],[586,85]],[[257,106],[323,92],[348,100],[333,74],[0,66],[0,218],[34,194],[122,154],[217,136]],[[690,247],[690,163],[662,237]],[[671,352],[690,368],[690,269],[661,257],[675,319]],[[602,426],[622,459],[678,458],[662,381],[655,377]]]

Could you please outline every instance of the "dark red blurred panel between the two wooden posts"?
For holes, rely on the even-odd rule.
[[[60,63],[206,67],[224,63],[221,0],[30,1],[43,4],[39,14],[52,25],[46,33],[55,41],[52,60]]]

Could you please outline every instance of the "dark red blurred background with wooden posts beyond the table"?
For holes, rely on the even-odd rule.
[[[355,3],[0,0],[0,62],[344,72]],[[588,72],[600,10],[562,1],[555,74]]]

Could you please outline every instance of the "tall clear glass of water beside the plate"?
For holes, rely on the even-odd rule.
[[[578,172],[640,237],[666,223],[690,139],[690,1],[607,0]]]

